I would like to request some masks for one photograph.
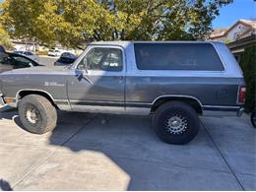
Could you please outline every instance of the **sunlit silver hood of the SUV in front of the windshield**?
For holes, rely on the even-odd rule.
[[[15,69],[11,71],[6,71],[1,73],[1,75],[14,75],[14,74],[67,74],[71,70],[67,68],[67,66],[54,66],[54,67],[29,67],[29,68],[21,68]]]

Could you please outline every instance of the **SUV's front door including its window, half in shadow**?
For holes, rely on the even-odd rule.
[[[92,112],[123,113],[125,59],[117,46],[92,46],[77,65],[82,78],[68,83],[72,109]]]

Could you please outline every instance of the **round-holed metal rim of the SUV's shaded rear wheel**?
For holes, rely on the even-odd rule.
[[[174,114],[165,121],[165,130],[169,134],[179,135],[187,130],[188,122],[186,118],[180,114]]]

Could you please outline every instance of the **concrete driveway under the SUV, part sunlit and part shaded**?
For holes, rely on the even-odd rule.
[[[256,190],[248,116],[201,118],[174,146],[149,117],[61,112],[53,133],[33,135],[16,111],[0,115],[0,179],[14,190]]]

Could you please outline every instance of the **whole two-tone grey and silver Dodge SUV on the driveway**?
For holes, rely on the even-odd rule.
[[[152,115],[162,141],[185,144],[199,115],[242,113],[245,82],[224,43],[101,41],[70,66],[2,73],[0,93],[32,133],[53,130],[57,109]]]

